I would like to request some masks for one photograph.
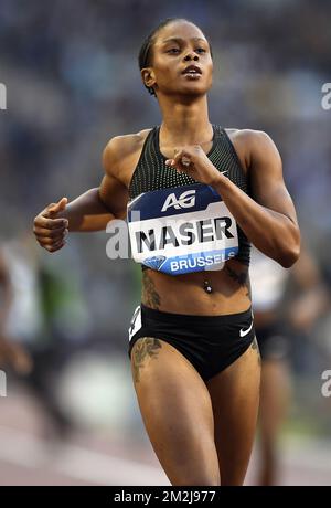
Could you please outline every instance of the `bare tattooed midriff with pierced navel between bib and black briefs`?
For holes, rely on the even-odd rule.
[[[205,290],[205,282],[212,288]],[[248,266],[229,260],[221,271],[167,275],[142,273],[142,304],[164,313],[195,316],[237,314],[250,307]]]

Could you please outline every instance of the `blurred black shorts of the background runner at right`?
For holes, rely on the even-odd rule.
[[[260,358],[266,360],[284,360],[289,354],[288,332],[281,322],[256,327],[256,339]]]

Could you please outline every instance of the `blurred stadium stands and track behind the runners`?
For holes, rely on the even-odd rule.
[[[331,285],[331,3],[325,0],[0,0],[0,234],[18,292],[13,339],[33,360],[7,372],[0,485],[168,485],[145,435],[127,357],[139,268],[106,257],[106,233],[49,255],[34,215],[102,178],[107,140],[157,125],[137,53],[167,17],[213,44],[213,123],[266,130],[278,146],[303,242]],[[290,288],[291,290],[291,288]],[[330,309],[330,307],[329,307]],[[279,484],[331,485],[331,315],[293,334],[292,400]],[[255,481],[254,454],[248,484]]]

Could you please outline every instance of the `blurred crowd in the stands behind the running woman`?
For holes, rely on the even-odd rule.
[[[106,233],[71,235],[68,245],[50,256],[34,245],[32,221],[49,202],[98,186],[109,138],[160,121],[137,55],[153,27],[173,15],[196,22],[212,42],[212,121],[266,130],[281,154],[325,295],[321,317],[305,334],[292,334],[293,416],[303,414],[316,432],[328,434],[330,404],[320,395],[320,373],[331,368],[331,112],[321,106],[322,84],[331,81],[328,0],[0,1],[0,83],[8,94],[7,110],[0,110],[1,292],[9,274],[25,311],[13,319],[12,335],[30,356],[12,358],[61,435],[71,424],[72,399],[58,395],[58,372],[72,361],[63,378],[67,391],[79,371],[74,363],[79,351],[99,353],[96,371],[105,369],[100,379],[109,382],[120,373],[107,378],[103,358],[116,370],[119,356],[129,382],[126,329],[139,300],[139,268],[129,260],[107,260]],[[288,290],[296,294],[295,284]],[[121,390],[115,405],[125,396]],[[319,415],[313,423],[311,409]],[[134,427],[137,414],[128,414]]]

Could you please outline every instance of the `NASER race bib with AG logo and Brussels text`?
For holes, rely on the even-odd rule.
[[[128,226],[134,260],[166,274],[221,269],[238,253],[234,216],[201,183],[138,195],[128,204]]]

